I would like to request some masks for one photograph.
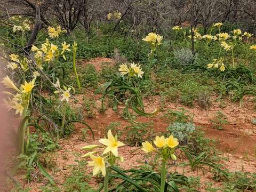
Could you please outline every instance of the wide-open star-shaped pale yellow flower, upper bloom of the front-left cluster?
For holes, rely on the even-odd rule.
[[[118,157],[118,147],[125,145],[124,143],[117,141],[117,139],[111,133],[111,130],[108,130],[108,139],[100,139],[99,142],[107,146],[103,151],[103,155],[111,151],[111,153],[113,153],[113,155],[116,157]]]

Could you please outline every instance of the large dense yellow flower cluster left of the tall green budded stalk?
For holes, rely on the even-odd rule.
[[[51,62],[53,59],[57,59],[60,55],[66,60],[64,53],[65,51],[71,51],[69,49],[70,45],[67,45],[66,42],[62,43],[61,45],[62,47],[60,51],[57,45],[50,43],[49,39],[46,38],[45,43],[41,45],[40,49],[35,45],[31,47],[31,51],[36,52],[35,59],[39,68],[42,69],[43,62]]]

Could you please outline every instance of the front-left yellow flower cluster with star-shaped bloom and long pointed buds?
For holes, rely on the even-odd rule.
[[[88,162],[89,166],[93,166],[93,175],[97,175],[100,172],[105,177],[106,175],[106,166],[114,165],[116,160],[119,159],[119,161],[123,162],[124,158],[122,156],[118,156],[118,147],[122,147],[125,144],[121,141],[117,140],[117,135],[114,137],[111,133],[111,130],[108,131],[107,139],[100,139],[99,142],[107,146],[102,153],[102,156],[94,156],[93,154],[98,153],[98,151],[90,151],[89,153],[86,153],[82,157],[89,157],[92,159],[92,161]],[[81,149],[84,150],[93,150],[98,147],[103,147],[99,145],[91,145],[91,146],[85,146]]]

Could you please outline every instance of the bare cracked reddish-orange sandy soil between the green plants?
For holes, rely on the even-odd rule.
[[[102,65],[112,66],[115,62],[114,60],[108,58],[96,58],[91,61],[83,62],[82,65],[87,65],[89,63],[91,65],[94,65],[95,68],[99,71],[101,70]],[[82,106],[83,97],[94,99],[97,105],[97,107],[95,108],[98,109],[100,107],[101,95],[94,95],[92,91],[86,92],[86,95],[75,95],[74,99],[76,99],[78,102],[76,104],[73,104],[74,107]],[[159,97],[145,99],[143,102],[145,103],[146,111],[153,111],[155,108],[160,108],[161,106],[161,101]],[[196,104],[194,108],[188,108],[185,106],[181,106],[179,103],[167,103],[165,109],[179,110],[182,107],[187,109],[189,113],[194,114],[194,123],[202,127],[202,129],[205,131],[206,137],[214,138],[215,140],[217,140],[218,148],[223,151],[223,156],[228,157],[228,161],[223,162],[223,165],[226,169],[229,169],[230,171],[255,172],[256,130],[255,125],[251,123],[251,120],[256,118],[256,111],[253,108],[252,102],[250,102],[250,98],[244,99],[243,107],[241,108],[239,107],[239,103],[227,103],[228,104],[226,107],[220,108],[220,103],[214,102],[209,110],[203,110]],[[121,111],[123,107],[124,106],[118,107],[119,113],[122,113]],[[106,134],[106,127],[110,125],[111,122],[119,122],[121,125],[118,129],[120,130],[124,129],[124,127],[129,124],[127,120],[124,120],[121,115],[119,115],[116,111],[113,111],[110,107],[107,107],[107,110],[104,114],[100,114],[97,109],[93,111],[94,116],[92,118],[85,119],[86,123],[93,127],[95,134],[94,140],[92,140],[91,137],[87,138],[86,142],[81,140],[81,130],[84,128],[84,126],[79,124],[76,125],[76,131],[70,138],[60,140],[61,149],[57,151],[54,158],[54,161],[60,171],[51,172],[49,170],[50,173],[53,175],[53,178],[59,185],[63,183],[63,181],[69,174],[69,165],[77,164],[75,162],[74,154],[85,153],[85,151],[82,151],[80,149],[81,147],[98,143],[98,139],[104,137],[104,135]],[[227,116],[229,124],[223,125],[223,130],[213,129],[211,119],[213,119],[215,117],[215,113],[220,110],[223,114]],[[168,122],[164,120],[162,113],[158,113],[153,118],[138,116],[136,121],[143,123],[152,121],[154,126],[154,132],[159,132],[159,134],[161,134],[161,132],[165,132],[166,127],[168,126]],[[147,157],[143,153],[141,153],[141,150],[136,150],[135,152],[133,152],[137,148],[138,147],[129,146],[120,148],[119,153],[122,154],[125,159],[125,162],[121,163],[121,167],[127,169],[134,166],[139,166],[140,161],[145,161]],[[88,170],[90,171],[91,169]],[[204,191],[205,182],[213,181],[211,179],[211,172],[207,172],[206,174],[204,174],[202,171],[193,172],[189,169],[188,166],[184,168],[178,166],[177,164],[177,166],[172,166],[171,171],[178,171],[179,173],[184,173],[187,176],[193,175],[194,177],[197,177],[199,175],[202,182],[201,188],[198,189],[199,191]],[[17,177],[17,179],[22,182],[24,186],[33,188],[33,190],[31,191],[41,191],[38,188],[47,183],[46,179],[43,179],[42,182],[39,183],[27,183],[21,178],[22,175],[19,175]],[[92,180],[90,183],[92,186],[97,186],[95,180]],[[220,185],[220,183],[214,183],[214,186]]]

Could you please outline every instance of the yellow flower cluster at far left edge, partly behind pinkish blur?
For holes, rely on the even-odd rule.
[[[35,78],[29,83],[25,81],[25,84],[20,86],[20,89],[11,81],[9,76],[3,78],[2,83],[10,89],[17,91],[16,94],[5,91],[4,93],[10,95],[8,100],[4,100],[4,103],[8,110],[15,109],[15,115],[22,115],[23,110],[28,108],[30,93],[35,86]]]

